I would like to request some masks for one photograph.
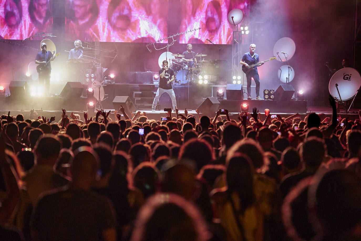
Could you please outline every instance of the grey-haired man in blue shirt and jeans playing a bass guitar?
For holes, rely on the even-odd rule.
[[[256,50],[256,44],[251,44],[249,46],[249,52],[245,53],[242,57],[242,60],[240,61],[240,64],[244,65],[246,68],[249,67],[249,65],[252,64],[257,64],[258,62],[260,62],[260,57],[257,55],[257,53],[255,53]],[[261,65],[263,65],[264,62],[261,62]],[[252,77],[256,82],[256,99],[257,100],[261,100],[260,97],[260,76],[258,76],[258,70],[257,70],[257,66],[254,67],[254,69],[252,69],[251,71],[248,72],[248,74],[246,74],[247,77],[247,94],[248,94],[248,99],[251,99],[251,82],[252,82]]]

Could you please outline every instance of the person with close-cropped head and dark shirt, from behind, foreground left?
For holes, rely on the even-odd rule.
[[[99,157],[79,147],[71,161],[73,181],[41,197],[32,213],[34,240],[116,240],[116,220],[108,198],[91,191]]]

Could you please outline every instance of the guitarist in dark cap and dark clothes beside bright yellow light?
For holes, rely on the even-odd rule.
[[[42,51],[40,51],[35,57],[35,63],[44,65],[51,57],[53,57],[53,53],[46,50],[47,48],[46,43],[42,43],[41,48]],[[52,61],[54,59],[55,57],[52,59]],[[50,73],[51,73],[51,65],[49,62],[44,72],[39,73],[39,84],[44,85],[44,81],[45,81],[45,94],[47,95],[49,94],[49,89],[50,89]]]

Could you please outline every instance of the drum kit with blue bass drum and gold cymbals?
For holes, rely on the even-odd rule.
[[[179,85],[195,84],[196,77],[206,72],[204,64],[208,62],[208,60],[204,60],[204,57],[207,56],[205,54],[201,53],[196,55],[196,57],[200,57],[199,61],[183,60],[181,58],[184,57],[184,55],[180,53],[173,53],[171,55],[174,56],[174,58],[171,59],[172,63],[170,68],[174,70],[175,82]]]

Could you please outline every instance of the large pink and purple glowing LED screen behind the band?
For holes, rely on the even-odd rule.
[[[227,13],[234,8],[242,9],[243,22],[247,22],[249,2],[0,0],[0,38],[26,39],[36,33],[62,30],[66,40],[148,43],[201,27],[200,30],[180,35],[179,43],[209,43],[206,41],[209,39],[215,44],[229,44],[232,29],[227,21]],[[62,6],[63,9],[55,10],[53,6]],[[168,23],[171,23],[171,27]]]

